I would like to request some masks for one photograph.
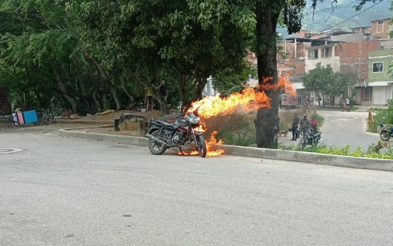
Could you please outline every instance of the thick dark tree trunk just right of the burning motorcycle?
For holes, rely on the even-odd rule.
[[[276,58],[276,26],[279,15],[267,11],[257,11],[257,61],[258,61],[258,82],[261,89],[266,84],[277,84],[277,58]],[[269,42],[269,43],[268,43]],[[262,46],[265,45],[264,48]],[[263,79],[272,77],[272,80],[264,82]],[[259,148],[277,149],[279,119],[279,90],[265,91],[271,98],[271,108],[261,108],[258,110],[255,129],[255,141]]]

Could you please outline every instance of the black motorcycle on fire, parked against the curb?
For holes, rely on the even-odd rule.
[[[196,130],[200,126],[197,110],[182,113],[173,122],[152,119],[146,137],[152,154],[163,154],[168,148],[181,148],[195,143],[200,157],[207,154],[205,138]]]

